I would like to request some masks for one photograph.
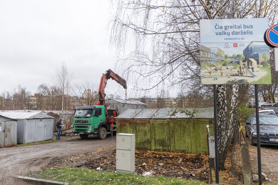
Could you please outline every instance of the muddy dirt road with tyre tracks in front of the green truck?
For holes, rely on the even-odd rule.
[[[95,148],[116,145],[116,136],[104,140],[88,138],[0,149],[0,184],[20,184],[14,176],[24,176],[55,164],[62,158],[79,153],[93,152]]]

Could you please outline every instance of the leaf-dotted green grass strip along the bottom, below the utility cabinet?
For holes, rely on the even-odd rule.
[[[89,170],[85,168],[46,168],[29,174],[30,177],[52,181],[69,182],[70,184],[206,184],[199,181],[188,181],[164,176],[140,176],[137,174],[119,174]]]

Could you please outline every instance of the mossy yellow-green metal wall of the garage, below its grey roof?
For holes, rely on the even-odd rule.
[[[213,119],[118,118],[117,133],[135,134],[136,148],[169,152],[208,153],[206,125],[213,127]]]

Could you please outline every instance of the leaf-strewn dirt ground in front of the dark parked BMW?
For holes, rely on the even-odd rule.
[[[247,138],[248,139],[248,138]],[[253,173],[258,174],[257,146],[249,143],[250,163]],[[278,146],[261,145],[261,169],[268,178],[268,183],[278,181]]]

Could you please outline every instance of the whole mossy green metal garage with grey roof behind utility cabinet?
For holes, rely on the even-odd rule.
[[[117,133],[135,134],[136,148],[185,153],[208,153],[206,125],[214,123],[213,107],[127,109],[116,120]]]

